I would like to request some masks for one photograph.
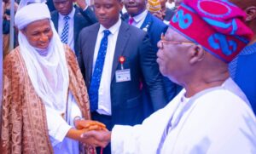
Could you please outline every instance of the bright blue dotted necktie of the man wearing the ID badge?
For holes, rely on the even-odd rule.
[[[102,71],[105,61],[105,55],[108,48],[108,35],[111,33],[108,30],[104,30],[104,37],[102,37],[101,46],[97,55],[96,64],[90,81],[89,99],[90,99],[90,111],[96,111],[98,108],[98,91],[102,78]]]

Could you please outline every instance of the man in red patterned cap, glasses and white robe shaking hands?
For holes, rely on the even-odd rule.
[[[216,9],[218,8],[218,9]],[[112,153],[256,153],[256,119],[228,62],[253,36],[246,14],[222,0],[185,0],[158,43],[160,71],[184,89],[142,124],[91,131]]]

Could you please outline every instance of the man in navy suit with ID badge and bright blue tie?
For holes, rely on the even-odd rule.
[[[99,23],[84,28],[79,37],[79,66],[89,92],[92,119],[105,123],[108,129],[113,124],[134,125],[143,121],[142,79],[155,107],[166,104],[148,35],[120,20],[122,7],[121,0],[95,0]]]

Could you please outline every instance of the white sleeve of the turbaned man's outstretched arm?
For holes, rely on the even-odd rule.
[[[49,139],[52,146],[55,146],[64,140],[70,125],[56,111],[46,107],[46,117],[48,125]]]

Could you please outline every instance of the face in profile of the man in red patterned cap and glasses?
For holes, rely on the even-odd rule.
[[[173,82],[180,83],[180,79],[187,76],[189,65],[194,62],[191,60],[195,58],[192,55],[196,53],[197,45],[172,28],[168,28],[166,36],[162,37],[157,45],[160,72]]]

